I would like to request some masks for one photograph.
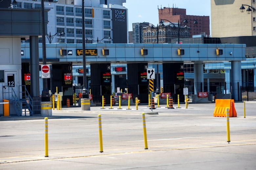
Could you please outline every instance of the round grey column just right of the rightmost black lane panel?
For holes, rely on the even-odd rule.
[[[203,87],[201,86],[203,83],[203,64],[194,64],[194,90],[195,93],[203,92]],[[202,88],[202,89],[201,89]]]

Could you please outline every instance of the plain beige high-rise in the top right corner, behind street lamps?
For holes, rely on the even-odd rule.
[[[256,35],[256,11],[250,15],[240,12],[242,4],[255,7],[255,0],[211,0],[212,37],[235,37]]]

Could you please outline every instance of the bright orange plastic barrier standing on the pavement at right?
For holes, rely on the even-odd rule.
[[[234,99],[216,99],[214,117],[226,117],[226,108],[229,109],[229,117],[237,117]]]

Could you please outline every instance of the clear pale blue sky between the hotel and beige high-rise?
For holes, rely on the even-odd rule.
[[[211,0],[126,0],[123,6],[128,9],[129,31],[132,23],[149,22],[156,26],[161,7],[186,9],[187,15],[211,16]]]

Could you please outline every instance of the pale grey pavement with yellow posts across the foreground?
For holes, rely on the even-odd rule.
[[[214,103],[155,107],[52,110],[48,149],[44,117],[1,117],[0,169],[256,169],[256,102],[235,103],[230,142]]]

